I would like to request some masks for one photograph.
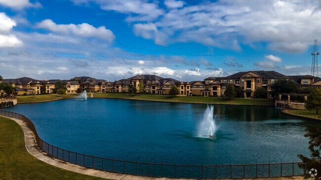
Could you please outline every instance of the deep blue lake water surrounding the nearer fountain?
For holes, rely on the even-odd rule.
[[[310,154],[307,124],[264,106],[214,105],[214,138],[197,137],[207,105],[121,99],[61,100],[5,108],[33,121],[59,148],[127,161],[166,164],[299,162]]]

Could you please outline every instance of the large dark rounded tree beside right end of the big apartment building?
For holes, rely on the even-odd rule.
[[[271,94],[276,97],[279,93],[298,93],[300,90],[294,81],[278,79],[271,86]]]

